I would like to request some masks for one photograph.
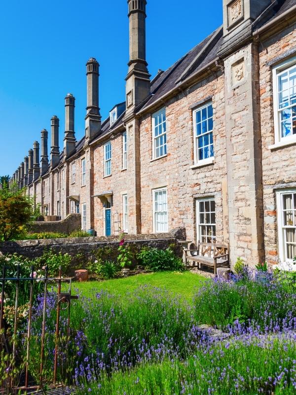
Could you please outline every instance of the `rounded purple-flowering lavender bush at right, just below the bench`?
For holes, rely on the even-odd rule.
[[[222,328],[236,320],[243,324],[253,322],[260,328],[280,326],[282,319],[295,314],[292,288],[261,271],[248,278],[207,282],[194,297],[196,321]]]

